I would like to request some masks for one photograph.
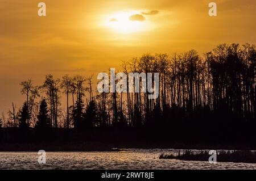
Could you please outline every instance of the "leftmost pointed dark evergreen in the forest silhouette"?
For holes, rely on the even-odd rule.
[[[23,104],[22,110],[19,111],[19,127],[22,129],[27,129],[30,127],[31,114],[28,109],[27,102]]]

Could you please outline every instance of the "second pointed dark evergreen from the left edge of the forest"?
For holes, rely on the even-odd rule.
[[[40,103],[39,115],[37,117],[38,121],[36,122],[35,128],[38,131],[46,131],[52,127],[46,99],[43,99]]]

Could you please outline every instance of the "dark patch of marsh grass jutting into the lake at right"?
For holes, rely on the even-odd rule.
[[[159,159],[179,159],[184,161],[208,161],[208,150],[184,150],[176,154],[162,153]],[[248,150],[217,151],[217,162],[256,163],[256,152]]]

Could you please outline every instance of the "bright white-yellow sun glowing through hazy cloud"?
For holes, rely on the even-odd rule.
[[[135,12],[118,12],[109,15],[106,20],[106,26],[117,33],[134,33],[146,29],[146,22],[139,20],[130,20],[130,16]]]

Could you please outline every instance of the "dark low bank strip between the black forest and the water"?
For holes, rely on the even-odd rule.
[[[123,149],[177,149],[177,150],[256,150],[247,145],[203,145],[203,144],[106,144],[101,142],[15,142],[1,143],[0,152],[30,152],[46,150],[51,152],[94,152],[94,151],[122,151]]]

